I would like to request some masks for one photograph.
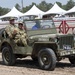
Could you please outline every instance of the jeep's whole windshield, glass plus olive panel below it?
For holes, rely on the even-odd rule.
[[[56,34],[56,28],[52,19],[25,20],[28,35]]]

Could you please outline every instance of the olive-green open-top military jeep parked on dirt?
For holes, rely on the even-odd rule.
[[[54,70],[56,62],[68,58],[75,64],[74,35],[57,33],[53,20],[25,20],[27,46],[16,44],[0,30],[0,52],[5,65],[14,65],[17,58],[31,56],[41,69]]]

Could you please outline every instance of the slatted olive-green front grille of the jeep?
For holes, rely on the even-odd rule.
[[[63,49],[64,45],[70,45],[71,48],[74,46],[74,38],[72,35],[70,36],[62,36],[59,38],[59,47],[60,49]]]

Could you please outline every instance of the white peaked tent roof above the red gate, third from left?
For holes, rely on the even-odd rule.
[[[66,10],[60,8],[57,3],[54,4],[54,6],[48,10],[45,14],[64,14]]]

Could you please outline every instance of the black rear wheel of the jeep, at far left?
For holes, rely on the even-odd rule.
[[[5,65],[14,65],[16,58],[12,52],[12,49],[8,47],[4,47],[2,50],[2,59]]]

